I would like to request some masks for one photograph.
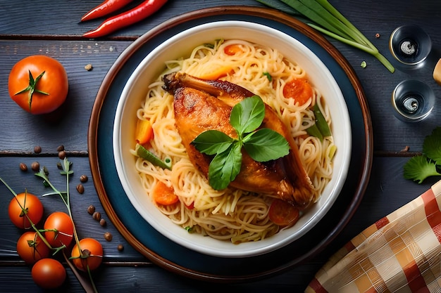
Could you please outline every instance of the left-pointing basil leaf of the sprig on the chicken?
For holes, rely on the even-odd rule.
[[[216,155],[230,148],[233,138],[218,130],[207,130],[194,138],[192,145],[206,155]]]

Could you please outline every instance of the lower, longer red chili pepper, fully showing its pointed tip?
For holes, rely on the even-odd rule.
[[[127,27],[135,22],[139,22],[147,18],[151,14],[159,10],[167,0],[146,0],[139,4],[135,8],[130,9],[119,15],[113,16],[105,20],[97,29],[91,30],[83,34],[83,37],[96,38],[103,37],[106,34],[110,34],[122,27]]]

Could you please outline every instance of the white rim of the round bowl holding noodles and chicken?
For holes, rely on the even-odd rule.
[[[328,68],[325,66],[325,64],[316,56],[315,53],[313,53],[309,48],[307,48],[306,46],[304,46],[301,42],[297,41],[297,39],[294,39],[293,37],[291,37],[288,34],[285,34],[285,32],[281,32],[279,30],[276,30],[272,27],[267,27],[265,25],[261,25],[261,24],[257,24],[254,22],[247,22],[247,21],[242,21],[242,20],[223,20],[223,21],[215,21],[215,22],[209,22],[209,23],[205,23],[205,24],[201,24],[201,25],[197,25],[194,27],[191,27],[190,29],[184,30],[182,32],[180,32],[179,34],[176,34],[174,37],[170,38],[168,40],[168,42],[170,41],[175,41],[176,39],[179,39],[180,37],[182,37],[183,34],[194,34],[195,32],[199,32],[200,30],[206,30],[207,27],[218,27],[219,25],[223,25],[223,26],[231,26],[231,25],[244,25],[245,27],[247,26],[251,26],[251,27],[259,27],[260,30],[263,30],[265,32],[271,32],[271,34],[273,34],[273,36],[279,36],[279,37],[283,37],[283,38],[287,38],[290,39],[290,41],[293,41],[294,44],[296,44],[296,46],[298,46],[298,48],[302,48],[302,50],[305,50],[307,52],[309,52],[310,56],[313,56],[314,62],[316,62],[317,64],[320,64],[321,67],[326,70],[326,74],[328,74],[329,77],[332,77],[332,74],[330,74],[330,71],[328,70]],[[145,67],[146,63],[150,62],[151,56],[154,56],[157,52],[161,51],[163,49],[163,47],[167,46],[168,42],[164,42],[163,44],[160,44],[159,46],[157,46],[156,48],[154,48],[153,51],[151,51],[137,66],[137,68],[135,69],[134,72],[132,72],[132,74],[130,75],[130,78],[128,79],[128,82],[125,84],[124,89],[123,89],[123,93],[121,93],[121,97],[127,97],[128,93],[130,93],[130,86],[128,86],[128,84],[131,84],[132,82],[135,81],[135,79],[137,78],[137,72],[139,72],[139,70],[142,70],[142,68]],[[340,102],[342,102],[344,104],[344,117],[343,120],[346,122],[344,123],[347,127],[349,128],[345,128],[344,129],[344,134],[345,137],[347,138],[347,140],[345,141],[345,147],[349,148],[349,151],[346,152],[346,155],[344,157],[344,162],[342,164],[342,169],[339,170],[339,174],[338,176],[342,179],[340,180],[340,182],[336,185],[335,189],[332,190],[332,194],[333,196],[328,198],[328,201],[325,204],[325,209],[322,209],[323,212],[321,212],[321,214],[319,214],[319,216],[313,216],[311,217],[311,219],[309,219],[309,221],[307,221],[304,225],[306,225],[307,228],[303,228],[302,231],[302,235],[304,235],[305,233],[307,233],[309,230],[311,230],[311,228],[313,228],[313,226],[315,226],[316,223],[318,223],[318,221],[320,221],[323,216],[326,214],[326,212],[330,209],[330,207],[332,206],[333,202],[335,202],[338,194],[340,193],[342,186],[344,185],[344,181],[346,179],[347,176],[347,171],[349,169],[349,162],[350,162],[350,157],[351,157],[351,148],[352,148],[352,134],[351,134],[351,126],[350,126],[350,120],[349,120],[349,112],[347,110],[347,105],[344,102],[344,97],[342,95],[342,92],[340,91],[340,87],[338,86],[337,82],[335,81],[335,79],[332,77],[332,82],[333,84],[335,84],[335,89],[338,89],[338,93],[339,93],[339,100]],[[120,162],[118,160],[118,155],[120,155],[121,150],[121,145],[120,145],[120,129],[118,128],[118,123],[121,119],[121,113],[123,112],[123,108],[125,105],[125,98],[120,98],[119,102],[118,102],[118,106],[117,106],[117,112],[116,112],[116,118],[115,118],[115,127],[113,129],[113,150],[114,150],[114,158],[116,160],[116,167],[118,170],[118,176],[120,178],[120,181],[123,185],[123,188],[125,190],[126,195],[129,197],[130,202],[132,202],[132,204],[134,205],[135,209],[137,209],[137,211],[139,212],[139,214],[142,215],[142,217],[148,222],[150,223],[151,226],[153,226],[156,230],[158,230],[161,234],[163,234],[164,236],[168,237],[168,239],[174,241],[174,242],[178,242],[178,244],[187,247],[189,249],[192,250],[196,250],[197,252],[201,252],[203,254],[209,254],[209,255],[213,255],[213,256],[221,256],[221,257],[244,257],[244,256],[255,256],[255,255],[259,255],[259,254],[264,254],[267,252],[271,252],[274,249],[278,249],[279,247],[285,246],[287,244],[289,244],[290,242],[297,240],[299,237],[301,237],[302,235],[297,235],[297,237],[287,237],[285,240],[280,240],[279,242],[275,242],[273,244],[270,245],[266,245],[264,247],[259,247],[257,249],[250,249],[247,252],[243,252],[243,251],[237,251],[236,249],[228,249],[226,251],[223,250],[216,250],[213,249],[212,246],[206,246],[206,247],[200,247],[197,246],[195,247],[194,244],[192,242],[188,243],[185,241],[181,241],[182,239],[180,237],[176,237],[176,235],[174,233],[168,233],[168,231],[164,231],[163,229],[161,229],[161,226],[159,226],[159,223],[157,223],[156,221],[151,221],[150,217],[146,217],[144,216],[144,210],[140,210],[140,207],[136,204],[134,204],[134,202],[132,200],[133,197],[131,197],[130,195],[132,195],[131,192],[131,188],[130,186],[128,186],[128,184],[125,181],[125,176],[124,176],[124,166],[123,163]],[[340,149],[341,147],[339,147]],[[135,201],[136,202],[136,201]],[[156,209],[156,207],[155,207]],[[171,221],[170,221],[171,222]],[[175,224],[173,224],[175,225]],[[177,225],[176,225],[177,226]],[[182,229],[183,230],[183,229]],[[166,232],[166,233],[164,233]],[[268,238],[270,239],[270,238]],[[179,241],[178,241],[179,240]],[[185,240],[185,239],[184,239]],[[220,241],[220,240],[216,240],[216,241]],[[264,240],[260,240],[261,242],[263,242]],[[231,244],[232,245],[232,244]],[[241,244],[242,245],[242,244]]]

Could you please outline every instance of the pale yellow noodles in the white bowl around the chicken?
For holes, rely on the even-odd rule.
[[[232,55],[225,53],[230,45],[240,46],[240,50]],[[273,48],[242,40],[221,40],[213,46],[194,48],[188,58],[168,61],[166,73],[176,71],[201,78],[219,74],[216,78],[238,84],[270,105],[299,145],[299,155],[314,187],[313,202],[318,200],[332,175],[335,145],[332,136],[320,141],[306,133],[315,122],[310,110],[314,103],[318,103],[326,121],[331,123],[321,93],[314,89],[312,98],[304,105],[283,95],[283,88],[291,79],[307,78],[299,65],[286,60]],[[268,219],[270,195],[234,188],[213,190],[205,176],[195,169],[175,127],[173,95],[161,88],[163,74],[149,85],[149,93],[137,110],[137,117],[150,120],[154,138],[149,149],[161,159],[170,157],[173,168],[161,169],[137,157],[136,169],[146,193],[151,195],[158,181],[173,186],[179,202],[157,206],[173,223],[194,233],[233,243],[262,240],[277,233],[280,228]],[[136,155],[135,150],[131,152]]]

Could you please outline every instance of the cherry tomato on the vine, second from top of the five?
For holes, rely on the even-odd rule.
[[[50,214],[44,222],[44,237],[51,247],[68,247],[73,238],[73,222],[70,216],[62,211]]]

